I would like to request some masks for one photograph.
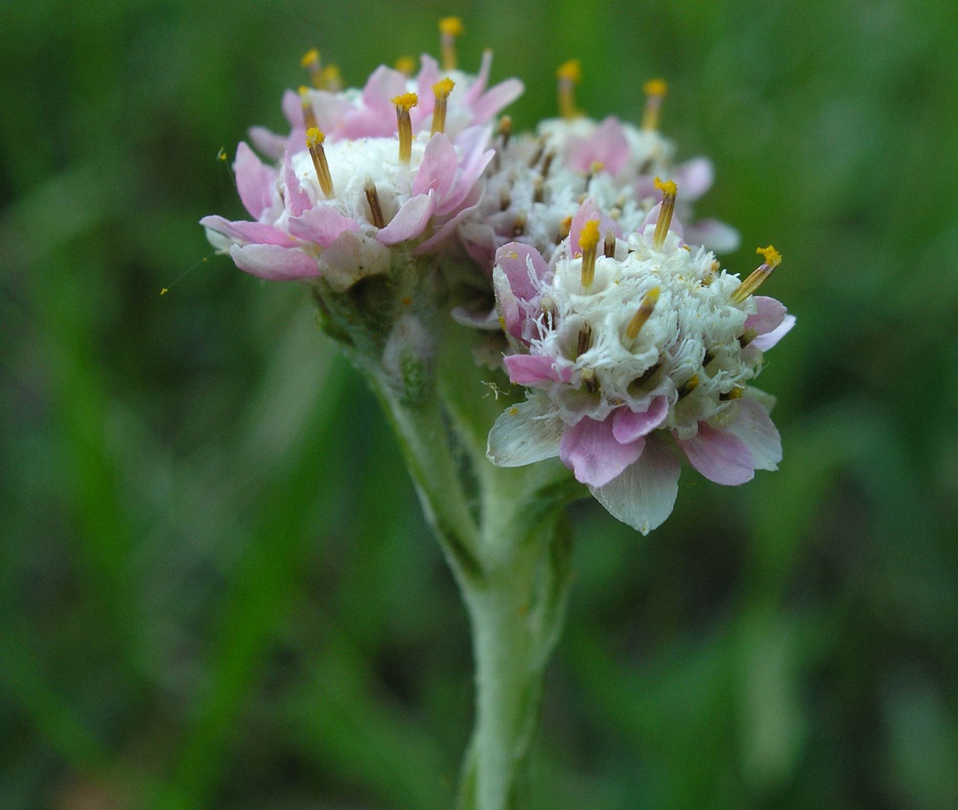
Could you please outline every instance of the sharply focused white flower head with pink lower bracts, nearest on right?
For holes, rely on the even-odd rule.
[[[794,319],[774,299],[737,295],[739,278],[668,225],[660,238],[661,217],[595,256],[602,215],[594,204],[581,214],[579,249],[570,233],[551,264],[524,244],[497,252],[505,366],[530,392],[492,428],[489,456],[515,466],[559,455],[613,515],[648,532],[672,511],[676,445],[719,483],[775,469],[778,433],[748,383]],[[765,266],[778,254],[766,255]]]

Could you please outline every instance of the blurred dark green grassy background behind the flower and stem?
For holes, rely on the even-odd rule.
[[[0,807],[450,805],[468,627],[395,442],[196,225],[308,47],[361,82],[447,13],[524,127],[565,58],[596,116],[666,77],[799,317],[781,472],[684,473],[646,539],[574,511],[536,807],[958,807],[951,0],[2,4]]]

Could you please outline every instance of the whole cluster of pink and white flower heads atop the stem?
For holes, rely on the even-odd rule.
[[[340,87],[315,51],[313,87],[287,91],[288,135],[250,130],[234,164],[253,220],[201,220],[217,249],[266,279],[323,277],[332,289],[438,250],[465,252],[490,279],[511,382],[527,399],[490,432],[490,460],[558,455],[616,518],[643,533],[671,513],[680,454],[721,484],[774,470],[771,400],[749,385],[794,324],[753,293],[781,262],[771,246],[744,281],[716,252],[738,247],[717,220],[691,222],[713,181],[706,158],[673,164],[659,132],[664,81],[646,83],[641,125],[580,114],[578,61],[558,71],[557,119],[515,134],[503,117],[523,90],[456,67],[457,18],[440,23],[442,68],[423,55]],[[662,179],[665,178],[665,179]],[[684,225],[683,225],[684,221]]]

